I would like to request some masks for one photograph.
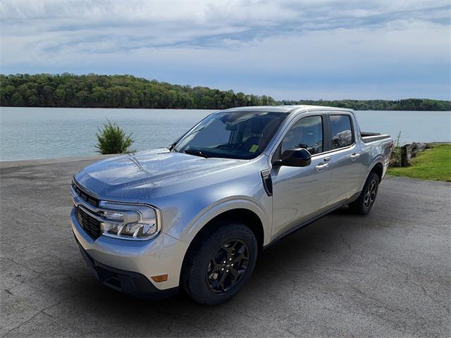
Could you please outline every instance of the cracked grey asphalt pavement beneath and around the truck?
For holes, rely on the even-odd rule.
[[[141,301],[102,287],[68,225],[90,161],[1,163],[0,337],[450,337],[451,184],[390,178],[263,253],[232,301]]]

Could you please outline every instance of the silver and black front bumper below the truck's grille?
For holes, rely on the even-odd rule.
[[[106,286],[127,294],[158,298],[178,289],[187,244],[161,232],[149,241],[127,241],[106,236],[89,237],[75,210],[70,213],[72,230],[82,256],[92,273]],[[152,276],[168,275],[165,282]],[[158,294],[158,295],[156,295]]]

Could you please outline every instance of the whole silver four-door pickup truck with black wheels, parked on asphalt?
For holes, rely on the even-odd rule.
[[[113,289],[221,303],[268,245],[341,206],[369,213],[392,146],[389,135],[360,132],[349,109],[218,111],[168,148],[75,175],[72,230]]]

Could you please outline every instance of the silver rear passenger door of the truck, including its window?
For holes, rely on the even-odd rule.
[[[330,130],[330,206],[349,199],[361,182],[361,147],[351,113],[328,114]]]

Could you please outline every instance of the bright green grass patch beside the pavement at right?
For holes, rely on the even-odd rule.
[[[451,182],[451,144],[430,144],[431,149],[419,152],[407,168],[389,168],[388,175],[421,180]]]

